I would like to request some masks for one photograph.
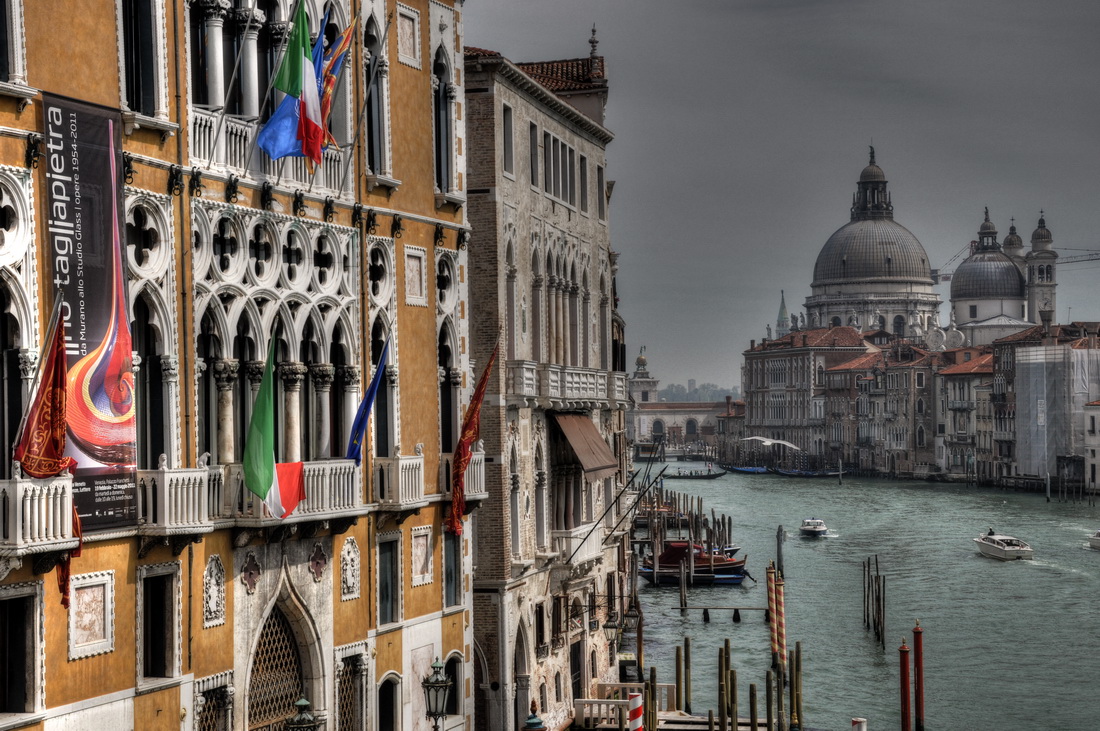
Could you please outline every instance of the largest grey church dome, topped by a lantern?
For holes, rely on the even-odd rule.
[[[887,176],[875,162],[859,175],[850,220],[837,229],[814,264],[806,315],[820,326],[884,329],[899,335],[927,332],[938,320],[932,266],[924,246],[893,219]]]

